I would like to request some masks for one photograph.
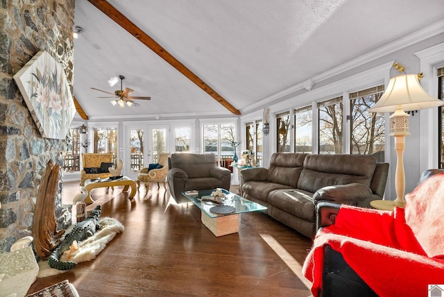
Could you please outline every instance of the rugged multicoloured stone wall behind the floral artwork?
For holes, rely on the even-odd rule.
[[[31,235],[42,173],[49,160],[62,164],[67,139],[38,132],[12,76],[44,49],[62,65],[73,85],[74,0],[0,0],[0,253]],[[70,206],[56,196],[58,228],[71,224]]]

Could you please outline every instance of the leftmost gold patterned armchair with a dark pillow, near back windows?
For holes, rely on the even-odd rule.
[[[105,167],[107,171],[108,167],[113,167],[112,153],[82,153],[83,169],[80,171],[80,186],[85,185],[85,180],[109,178],[112,176],[109,171],[104,172],[104,169],[101,170],[102,163],[106,163],[103,167]]]

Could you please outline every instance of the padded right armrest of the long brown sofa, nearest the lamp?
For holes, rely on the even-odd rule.
[[[351,183],[347,185],[334,185],[318,189],[313,195],[313,203],[331,201],[339,204],[357,206],[360,201],[370,201],[372,190],[366,185]]]

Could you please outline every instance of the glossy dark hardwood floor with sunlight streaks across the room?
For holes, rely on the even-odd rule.
[[[63,184],[71,203],[78,182]],[[95,260],[60,275],[37,278],[28,291],[69,280],[85,296],[311,296],[301,267],[311,240],[262,212],[241,214],[239,233],[215,237],[195,205],[177,205],[162,185],[133,201],[122,187],[95,189],[101,217],[125,230]],[[237,190],[237,189],[232,189]]]

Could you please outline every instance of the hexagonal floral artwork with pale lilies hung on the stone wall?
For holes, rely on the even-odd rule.
[[[76,107],[60,64],[41,50],[15,74],[14,80],[40,135],[65,139]]]

